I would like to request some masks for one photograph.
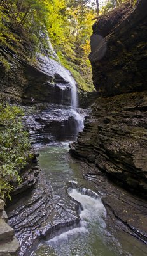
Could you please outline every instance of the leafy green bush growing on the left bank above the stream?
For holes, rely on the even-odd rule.
[[[31,157],[29,138],[22,125],[21,108],[0,104],[0,198],[10,198],[11,182],[20,184],[20,170]]]

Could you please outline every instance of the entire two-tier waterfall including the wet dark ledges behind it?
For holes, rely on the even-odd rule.
[[[44,84],[45,102],[49,102],[48,108],[33,121],[33,129],[31,127],[29,130],[32,130],[32,140],[36,141],[36,136],[37,138],[39,136],[40,143],[42,141],[74,140],[78,132],[83,130],[83,120],[87,114],[85,111],[82,111],[83,116],[78,113],[76,81],[71,72],[57,61],[57,54],[49,38],[48,50],[52,52],[56,60],[42,54],[36,56],[39,70],[47,75]],[[38,86],[36,92],[38,92]],[[30,116],[29,123],[31,120],[32,116]]]

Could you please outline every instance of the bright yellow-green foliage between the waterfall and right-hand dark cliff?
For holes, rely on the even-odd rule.
[[[54,0],[48,34],[62,65],[71,71],[78,88],[91,91],[94,86],[88,54],[95,11],[85,3],[88,1]]]

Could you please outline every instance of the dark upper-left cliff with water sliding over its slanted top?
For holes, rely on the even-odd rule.
[[[10,65],[7,71],[0,66],[0,99],[31,104],[31,97],[34,97],[35,102],[64,102],[69,105],[71,84],[67,80],[66,68],[53,60],[52,56],[50,58],[43,54],[38,54],[36,62],[30,63],[32,45],[27,46],[22,46],[19,52],[0,47],[0,54]]]

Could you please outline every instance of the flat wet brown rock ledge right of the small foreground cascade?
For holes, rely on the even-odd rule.
[[[107,175],[97,172],[94,164],[81,163],[81,165],[84,177],[94,184],[94,191],[102,196],[102,202],[107,210],[108,227],[115,228],[118,233],[127,233],[130,237],[136,237],[147,244],[146,200],[117,186],[114,180],[108,179]],[[128,239],[130,241],[130,238]],[[144,245],[143,247],[146,248]]]

